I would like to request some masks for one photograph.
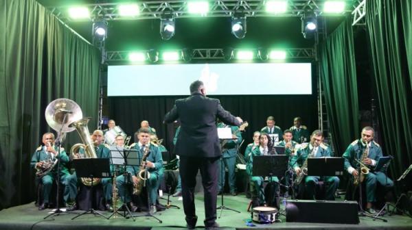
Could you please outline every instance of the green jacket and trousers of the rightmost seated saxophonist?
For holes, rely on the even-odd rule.
[[[355,159],[361,161],[363,152],[366,149],[366,144],[359,140],[354,140],[343,153],[342,157],[345,158],[345,170],[352,174],[352,170],[358,169],[358,162]],[[376,201],[376,185],[380,183],[384,187],[392,187],[393,181],[387,178],[384,172],[375,171],[374,166],[378,162],[379,158],[382,157],[382,149],[379,144],[372,141],[369,142],[369,153],[367,156],[372,159],[372,166],[369,166],[369,174],[365,177],[366,183],[366,196],[367,202]],[[353,176],[352,176],[353,177]]]

